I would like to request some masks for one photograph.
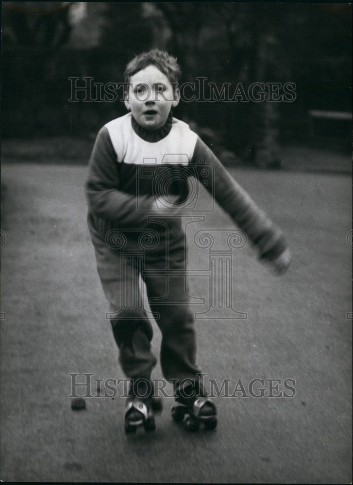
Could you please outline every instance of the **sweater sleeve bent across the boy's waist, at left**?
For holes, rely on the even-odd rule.
[[[137,210],[134,195],[118,190],[119,166],[108,129],[103,127],[93,146],[85,183],[89,211],[119,227],[144,227],[147,217]],[[151,202],[150,202],[151,203]],[[148,204],[141,197],[139,208]]]

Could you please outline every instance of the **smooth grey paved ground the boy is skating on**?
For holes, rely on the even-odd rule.
[[[86,399],[82,412],[68,397],[69,373],[122,377],[85,225],[84,173],[2,167],[1,480],[351,482],[350,178],[233,171],[285,229],[293,263],[278,279],[249,247],[233,251],[233,306],[248,318],[198,320],[198,360],[207,378],[230,379],[231,393],[238,379],[247,394],[265,379],[268,396],[267,379],[283,390],[292,378],[295,396],[218,398],[219,427],[196,435],[171,422],[166,399],[155,434],[127,437],[119,396]],[[232,227],[220,210],[189,226]],[[189,267],[207,269],[207,250],[189,241]],[[206,298],[195,311],[207,308],[207,281],[190,278],[190,293]],[[156,331],[157,353],[159,344]]]

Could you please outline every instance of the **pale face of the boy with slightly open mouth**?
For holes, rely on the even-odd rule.
[[[146,129],[161,128],[171,107],[179,103],[179,92],[173,90],[167,76],[155,65],[149,65],[130,78],[125,106],[137,123]]]

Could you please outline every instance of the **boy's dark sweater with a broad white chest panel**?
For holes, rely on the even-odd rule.
[[[159,223],[155,218],[152,221],[151,201],[166,193],[177,196],[179,202],[187,200],[191,177],[199,180],[235,225],[246,232],[260,259],[276,259],[286,249],[281,230],[199,136],[171,113],[157,130],[142,128],[128,113],[99,131],[85,184],[88,221],[102,238],[113,228],[153,228],[167,237],[165,211],[161,211]],[[176,242],[183,235],[181,217],[169,217],[168,241]]]

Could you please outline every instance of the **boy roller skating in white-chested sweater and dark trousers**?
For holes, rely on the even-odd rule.
[[[140,425],[154,429],[153,410],[158,407],[150,384],[156,364],[151,353],[152,328],[138,304],[139,275],[162,332],[162,372],[173,383],[179,404],[173,408],[173,419],[188,415],[190,430],[196,430],[201,421],[208,429],[217,425],[216,407],[204,393],[195,363],[194,319],[183,276],[185,233],[180,211],[188,194],[185,170],[211,194],[214,191],[219,205],[258,247],[260,259],[268,261],[278,274],[285,273],[290,260],[281,231],[196,133],[172,117],[171,109],[179,102],[179,75],[176,59],[157,49],[136,56],[127,65],[125,106],[129,113],[100,130],[86,181],[88,226],[97,269],[113,312],[119,362],[131,379],[126,432],[134,432]],[[213,171],[204,166],[202,170],[200,159],[212,165]],[[164,185],[155,183],[158,177],[164,178]],[[113,242],[109,240],[112,234],[117,236]],[[150,238],[150,244],[145,244],[141,257],[144,236]]]

